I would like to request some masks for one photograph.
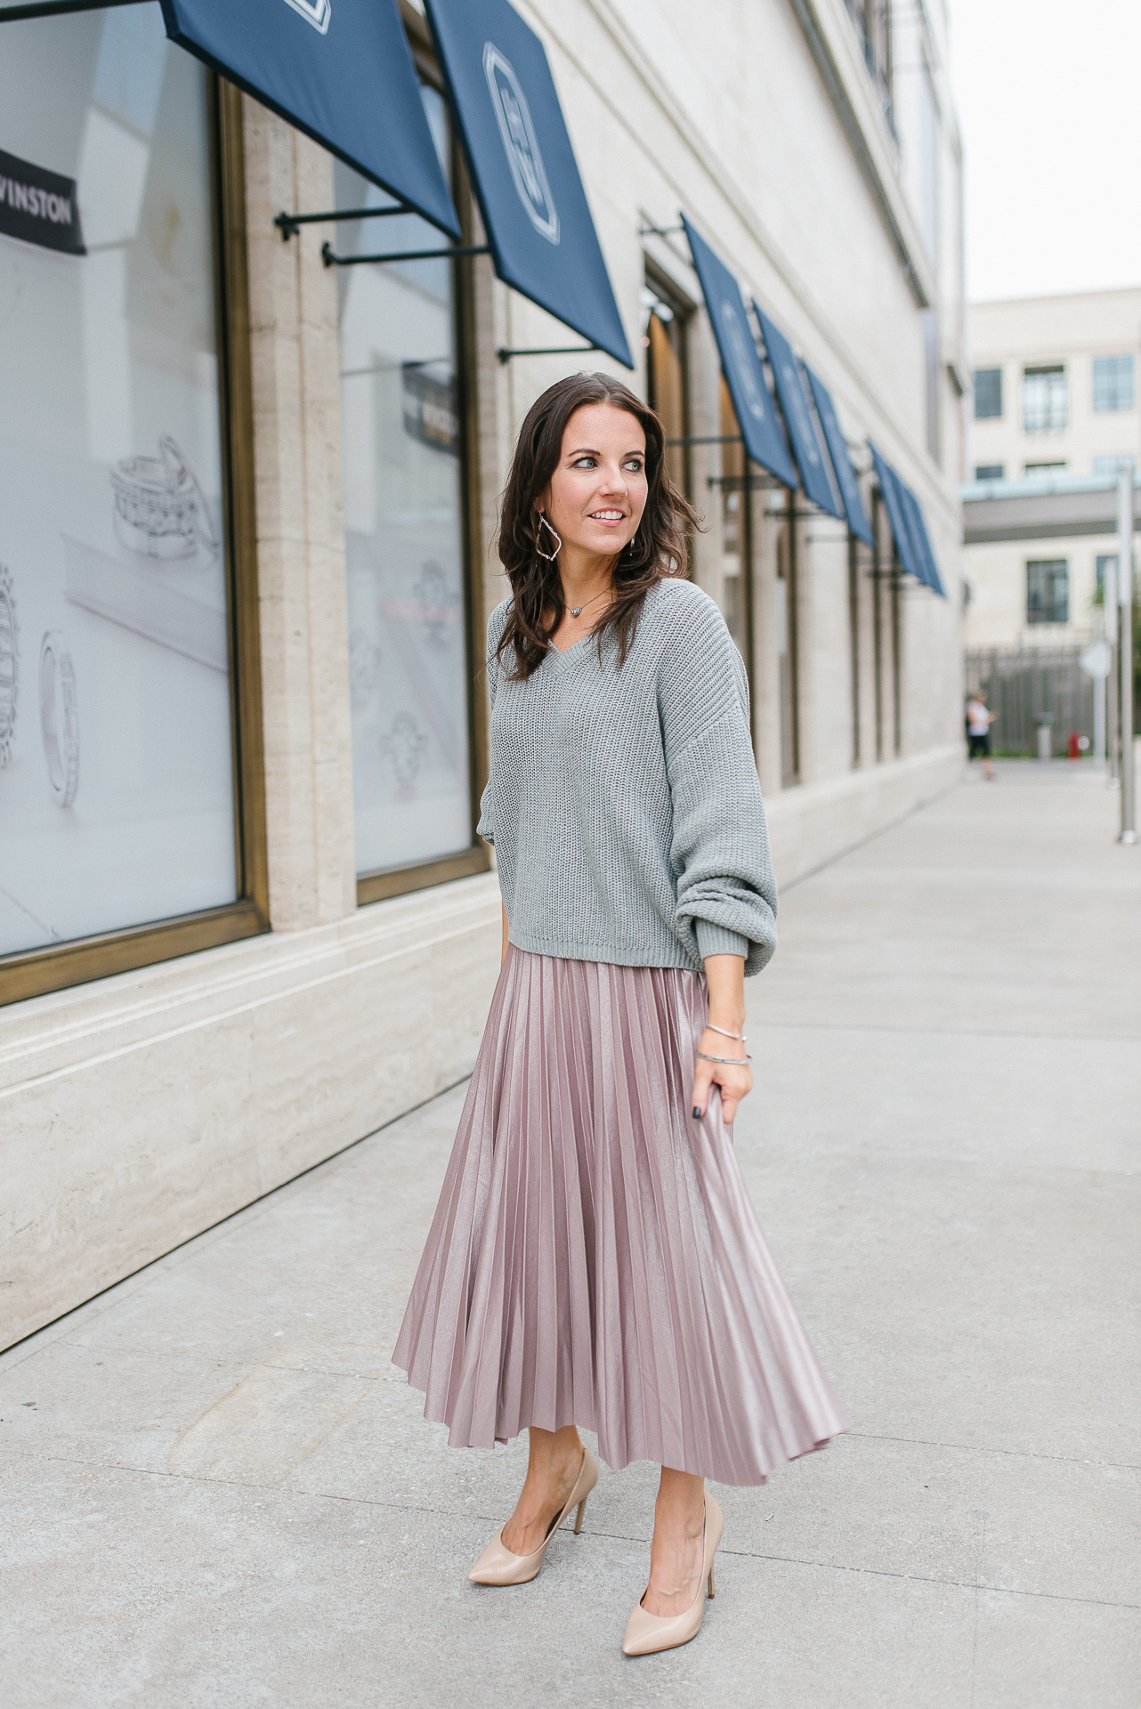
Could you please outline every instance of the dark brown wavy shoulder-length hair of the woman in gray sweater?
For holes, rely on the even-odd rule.
[[[502,661],[507,649],[514,651],[514,668],[507,675],[516,682],[530,677],[543,663],[550,651],[550,637],[565,612],[559,566],[538,552],[543,542],[540,542],[536,501],[559,467],[565,426],[584,403],[610,403],[641,424],[646,434],[649,487],[637,535],[615,559],[615,598],[591,629],[591,634],[598,636],[600,658],[603,637],[613,631],[618,637],[618,667],[622,667],[649,590],[663,576],[687,574],[687,523],[692,528],[702,526],[697,511],[670,480],[666,434],[647,403],[611,374],[570,374],[548,386],[535,400],[519,429],[499,518],[497,547],[511,581],[512,603],[495,658]]]

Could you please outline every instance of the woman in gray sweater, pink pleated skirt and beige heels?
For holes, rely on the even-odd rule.
[[[489,624],[502,969],[393,1354],[453,1446],[530,1429],[468,1577],[533,1579],[603,1459],[661,1465],[627,1654],[697,1634],[721,1511],[846,1429],[731,1143],[745,974],[775,947],[748,690],[685,579],[658,417],[576,374],[533,405]]]

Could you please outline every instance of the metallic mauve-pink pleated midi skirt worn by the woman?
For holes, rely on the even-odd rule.
[[[526,1425],[764,1483],[847,1429],[714,1090],[705,979],[509,947],[393,1362],[458,1448]]]

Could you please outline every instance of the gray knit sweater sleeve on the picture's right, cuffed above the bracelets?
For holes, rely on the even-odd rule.
[[[769,962],[777,887],[748,728],[748,684],[721,612],[687,598],[685,624],[663,649],[658,701],[670,791],[678,935],[700,960]]]

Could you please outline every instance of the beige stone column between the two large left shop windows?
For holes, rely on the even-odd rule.
[[[330,227],[273,226],[333,205],[333,161],[249,97],[244,142],[270,921],[295,931],[357,906],[336,270]]]

